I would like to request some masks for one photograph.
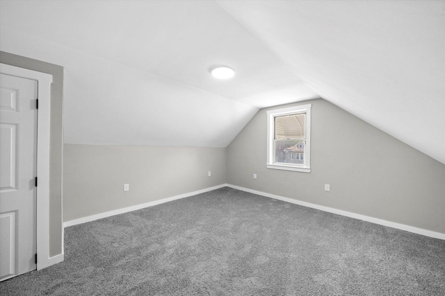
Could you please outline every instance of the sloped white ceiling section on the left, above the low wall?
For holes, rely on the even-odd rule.
[[[135,69],[133,67],[129,67],[126,64],[122,64],[122,63],[118,63],[115,62],[114,60],[109,60],[106,58],[102,58],[102,57],[98,57],[97,55],[92,55],[91,53],[86,53],[85,51],[80,51],[79,49],[72,49],[69,46],[65,46],[63,44],[57,44],[56,42],[52,41],[52,40],[46,40],[43,39],[42,37],[38,36],[31,36],[28,33],[23,33],[22,31],[17,31],[15,29],[10,29],[10,28],[5,28],[4,26],[1,27],[1,35],[2,35],[2,42],[0,44],[0,50],[1,51],[5,51],[5,52],[10,52],[10,53],[15,53],[17,55],[22,55],[25,57],[29,57],[29,58],[33,58],[35,60],[43,60],[46,62],[51,62],[54,64],[60,64],[61,66],[64,67],[65,69],[65,73],[66,73],[66,78],[67,78],[67,83],[66,83],[66,87],[65,87],[65,103],[64,103],[64,143],[72,143],[72,144],[83,144],[83,145],[88,145],[88,144],[93,144],[93,145],[121,145],[121,146],[180,146],[180,147],[214,147],[214,148],[225,148],[227,147],[227,145],[232,141],[232,139],[234,137],[236,137],[236,134],[238,134],[239,131],[242,130],[243,126],[245,124],[248,123],[248,121],[250,121],[250,119],[254,116],[254,114],[256,114],[259,110],[258,107],[253,107],[251,105],[245,104],[245,103],[241,103],[241,102],[237,102],[235,100],[232,99],[228,99],[225,98],[223,96],[218,96],[216,94],[212,94],[209,92],[206,92],[203,89],[199,89],[196,87],[188,87],[188,85],[179,85],[176,82],[172,82],[170,79],[165,79],[163,77],[160,76],[156,76],[156,75],[152,75],[152,73],[147,73],[147,71],[143,71],[140,69]],[[15,35],[16,40],[10,40],[10,34]],[[29,37],[29,38],[28,38]],[[33,44],[33,46],[26,46],[26,44],[20,40],[26,40],[26,44]],[[13,42],[10,42],[13,41]],[[42,47],[42,42],[44,44],[44,47]],[[17,49],[17,50],[16,50]],[[31,51],[30,51],[31,49]],[[76,57],[76,58],[70,58],[70,57]],[[76,101],[79,101],[79,99],[83,99],[81,98],[81,96],[79,96],[79,94],[77,93],[73,93],[73,89],[72,87],[76,87],[76,89],[78,89],[78,80],[79,78],[86,80],[88,79],[88,77],[90,77],[90,83],[92,84],[97,84],[97,82],[102,83],[102,85],[104,84],[103,82],[100,82],[100,77],[97,76],[97,73],[94,73],[93,76],[91,76],[90,74],[88,74],[86,77],[83,73],[79,73],[79,69],[78,68],[73,68],[73,62],[75,64],[80,64],[81,67],[80,69],[84,69],[86,63],[89,62],[89,60],[85,60],[86,57],[90,57],[91,59],[95,59],[95,60],[100,60],[102,62],[99,62],[98,64],[101,65],[102,67],[104,65],[110,64],[111,63],[111,69],[115,69],[114,65],[118,65],[120,68],[119,69],[124,69],[124,75],[127,75],[127,73],[129,73],[128,71],[136,71],[137,73],[140,73],[141,75],[147,75],[147,77],[152,77],[152,78],[156,78],[157,80],[162,80],[164,82],[168,82],[167,83],[167,87],[171,88],[170,85],[175,88],[173,90],[172,94],[178,94],[179,95],[179,102],[182,101],[183,103],[181,103],[182,105],[184,105],[184,103],[188,103],[188,106],[186,106],[186,110],[179,110],[177,106],[177,104],[174,102],[171,102],[171,100],[169,102],[167,102],[166,104],[171,106],[170,114],[172,112],[177,113],[180,112],[182,114],[187,114],[188,118],[190,118],[192,123],[184,123],[181,126],[181,128],[183,129],[183,134],[190,134],[191,137],[187,137],[184,138],[186,140],[182,141],[182,140],[177,140],[175,137],[170,137],[172,140],[169,140],[167,143],[164,143],[165,141],[159,141],[158,138],[153,137],[152,136],[152,130],[156,130],[154,128],[152,128],[153,125],[145,125],[147,126],[145,128],[145,130],[147,132],[145,132],[145,136],[144,139],[137,139],[135,137],[124,137],[121,138],[119,136],[119,134],[117,132],[115,132],[115,129],[112,128],[110,125],[108,125],[107,130],[104,130],[104,132],[106,134],[114,134],[113,137],[108,137],[108,139],[104,138],[104,140],[98,139],[95,135],[89,136],[88,134],[91,133],[91,130],[94,130],[95,128],[90,128],[91,125],[95,125],[95,121],[99,118],[97,118],[98,116],[95,116],[95,118],[90,118],[90,119],[86,119],[86,116],[83,114],[85,113],[84,110],[91,110],[91,107],[94,108],[93,106],[90,106],[90,100],[87,100],[84,104],[82,104],[81,106],[81,114],[79,114],[79,112],[77,111],[73,111],[72,110],[72,106],[73,104],[75,105],[79,105],[79,103],[76,103]],[[80,59],[80,60],[79,60]],[[95,62],[95,60],[92,60],[93,62]],[[97,68],[97,65],[95,64],[94,66]],[[107,67],[107,66],[106,66]],[[105,71],[108,71],[107,68],[102,68],[105,69]],[[94,67],[92,68],[94,70]],[[128,70],[128,71],[127,71]],[[91,72],[89,68],[86,68],[86,71]],[[74,73],[75,72],[75,73]],[[73,76],[74,75],[74,76]],[[111,74],[113,75],[113,73]],[[82,76],[82,77],[79,77]],[[99,78],[99,80],[96,82],[97,78]],[[144,78],[143,76],[140,77],[141,79],[145,80],[146,78]],[[139,80],[141,81],[141,80]],[[142,81],[143,82],[143,81]],[[152,83],[153,81],[148,80],[147,82]],[[156,84],[157,82],[154,81],[154,83]],[[173,85],[172,85],[173,83]],[[176,87],[175,87],[176,85]],[[156,85],[155,85],[156,86]],[[119,85],[117,87],[120,87]],[[83,90],[84,87],[83,85],[81,85],[81,88]],[[151,86],[148,87],[148,89],[152,89]],[[186,91],[184,98],[181,98],[180,96],[182,96],[182,94],[184,94],[184,92],[182,92],[182,90]],[[179,92],[178,92],[179,91]],[[176,93],[175,93],[176,92]],[[99,96],[102,96],[102,98],[105,98],[107,94],[110,94],[110,92],[108,93],[103,93],[102,91],[100,92]],[[156,98],[156,90],[154,94],[148,94],[149,96],[154,96],[154,98],[149,98],[149,101],[152,101],[153,103],[150,103],[149,106],[149,110],[158,110],[159,107],[156,107],[159,105],[159,102],[164,101],[164,97],[163,94],[161,94],[160,98]],[[194,94],[199,95],[198,97],[200,98],[198,101],[200,103],[202,103],[203,105],[197,105],[197,104],[193,104],[193,102],[196,102],[196,100],[191,100],[189,98],[192,98],[191,96],[195,96]],[[208,95],[207,95],[208,94]],[[171,97],[171,94],[168,94],[168,96]],[[91,103],[97,105],[97,103],[95,103],[94,101],[96,100],[97,97],[91,97],[91,99],[93,99],[93,101]],[[205,100],[203,100],[205,98]],[[197,116],[197,114],[195,114],[196,110],[198,111],[199,114],[201,114],[202,112],[199,112],[199,110],[203,107],[206,107],[208,109],[209,106],[204,105],[204,102],[207,101],[207,98],[209,100],[209,106],[216,106],[213,108],[213,111],[217,111],[217,115],[215,116],[214,114],[211,115],[211,112],[207,112],[207,115],[205,116]],[[107,98],[108,99],[108,98]],[[104,101],[103,99],[101,101]],[[114,102],[113,104],[109,104],[108,100],[106,100],[107,103],[104,106],[105,108],[109,108],[110,106],[116,106],[116,102]],[[140,100],[139,100],[140,101]],[[144,100],[145,101],[145,100]],[[172,104],[173,103],[173,104]],[[164,105],[165,107],[165,103],[161,103]],[[147,103],[145,103],[145,105],[147,105]],[[78,107],[76,107],[76,109],[78,109]],[[68,112],[67,112],[68,110]],[[189,113],[189,111],[192,110],[191,113]],[[211,110],[209,110],[211,111]],[[230,116],[225,116],[226,119],[224,118],[224,114],[226,114],[227,112],[232,112],[233,115]],[[75,116],[66,116],[67,113],[68,115],[70,114],[74,114],[73,112],[77,112],[75,113]],[[103,112],[103,111],[101,111]],[[147,111],[144,111],[144,113],[147,113]],[[148,112],[150,113],[150,111]],[[147,115],[147,117],[149,117],[149,115]],[[194,118],[198,118],[198,119],[194,119]],[[82,119],[84,118],[84,119]],[[96,119],[97,118],[97,119]],[[200,134],[200,130],[202,129],[201,126],[204,125],[204,119],[206,118],[211,118],[211,119],[216,119],[213,120],[213,122],[209,122],[210,126],[213,127],[212,128],[212,132],[211,134],[215,134],[215,131],[218,134],[218,138],[217,139],[209,139],[207,138],[207,136],[205,137],[198,137],[198,134]],[[113,119],[113,115],[110,114],[106,117],[103,117],[103,119],[107,119],[108,121],[119,121],[119,119]],[[76,123],[72,123],[72,121],[76,121]],[[100,125],[104,125],[103,122],[100,121],[101,119],[99,119],[99,124]],[[102,120],[103,121],[103,120]],[[131,116],[128,118],[128,120],[126,121],[132,121]],[[199,124],[196,124],[198,121],[200,121]],[[80,124],[79,124],[80,123]],[[86,132],[81,132],[81,134],[79,134],[79,131],[76,131],[77,134],[79,134],[80,138],[78,136],[76,136],[75,134],[73,135],[72,132],[72,128],[74,126],[74,128],[76,128],[77,130],[79,130],[79,125],[88,125],[88,130],[86,130]],[[140,129],[140,126],[144,126],[144,124],[142,125],[138,125],[137,129]],[[177,125],[178,126],[178,125]],[[71,129],[70,129],[71,128]],[[185,128],[185,130],[184,130]],[[67,130],[68,129],[68,130]],[[177,129],[177,128],[176,128]],[[206,128],[204,126],[204,130],[208,128]],[[171,130],[171,129],[169,129]],[[180,129],[177,129],[177,131],[179,131]],[[128,130],[127,132],[130,132],[131,134],[136,134],[136,131],[133,130]],[[171,133],[171,132],[170,132]],[[102,132],[101,132],[102,134]],[[101,136],[102,137],[102,136]]]

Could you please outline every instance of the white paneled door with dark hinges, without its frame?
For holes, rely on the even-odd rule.
[[[0,281],[36,269],[37,87],[0,74]]]

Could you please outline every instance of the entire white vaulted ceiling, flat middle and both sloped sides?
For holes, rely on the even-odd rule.
[[[65,67],[65,143],[225,147],[321,96],[445,163],[444,1],[0,5],[1,51]]]

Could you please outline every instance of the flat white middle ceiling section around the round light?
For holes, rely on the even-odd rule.
[[[218,96],[256,107],[294,101],[296,89],[304,98],[318,97],[214,1],[2,3],[2,26]],[[217,64],[234,68],[236,79],[213,79],[209,69]],[[248,99],[284,88],[288,97],[281,100],[258,105]]]

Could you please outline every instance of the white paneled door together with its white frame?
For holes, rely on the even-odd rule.
[[[0,64],[0,281],[49,265],[51,81]]]

